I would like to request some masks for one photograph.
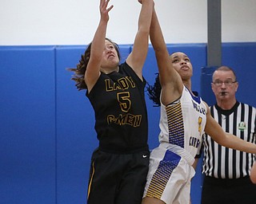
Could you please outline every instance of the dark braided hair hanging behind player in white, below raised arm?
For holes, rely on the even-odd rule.
[[[155,77],[154,85],[150,85],[147,83],[147,95],[150,97],[150,100],[153,100],[154,106],[160,106],[160,93],[161,93],[161,84],[159,80],[159,73],[156,73],[157,77]]]

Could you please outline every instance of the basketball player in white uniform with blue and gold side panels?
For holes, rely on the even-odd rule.
[[[194,156],[206,132],[226,147],[255,153],[256,145],[226,134],[210,116],[208,105],[191,91],[193,73],[185,53],[169,56],[157,15],[153,10],[150,40],[158,61],[162,87],[159,146],[150,153],[150,170],[142,204],[190,203]],[[152,92],[153,93],[153,92]],[[154,98],[154,94],[152,95]]]

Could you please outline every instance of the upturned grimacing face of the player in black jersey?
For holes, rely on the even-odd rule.
[[[105,40],[105,48],[102,53],[102,69],[116,69],[119,64],[118,52],[114,45]]]

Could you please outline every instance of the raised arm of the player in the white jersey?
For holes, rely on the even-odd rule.
[[[183,83],[182,78],[173,68],[155,10],[153,11],[150,26],[150,41],[158,61],[159,77],[162,86],[162,103],[169,104],[182,95]]]

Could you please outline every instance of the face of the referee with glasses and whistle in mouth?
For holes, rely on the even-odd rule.
[[[218,70],[214,72],[211,88],[219,100],[230,99],[235,97],[235,92],[238,90],[238,82],[232,71]]]

